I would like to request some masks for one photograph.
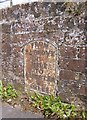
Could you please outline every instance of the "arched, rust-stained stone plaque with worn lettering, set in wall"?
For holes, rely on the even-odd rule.
[[[56,81],[56,48],[46,41],[25,46],[26,89],[54,94]]]

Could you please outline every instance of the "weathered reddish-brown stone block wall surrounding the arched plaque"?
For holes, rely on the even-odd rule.
[[[27,81],[25,75],[25,64],[30,65],[28,61],[25,63],[26,59],[29,59],[26,57],[25,47],[29,45],[31,47],[31,41],[50,43],[57,48],[54,61],[56,80],[52,82],[52,78],[51,80],[47,78],[47,81],[37,79],[32,88],[48,94],[55,90],[64,101],[85,105],[87,97],[85,14],[74,16],[66,13],[65,8],[60,6],[60,3],[35,2],[0,10],[3,81],[11,82],[16,87],[22,85],[27,90],[30,89],[32,80]]]

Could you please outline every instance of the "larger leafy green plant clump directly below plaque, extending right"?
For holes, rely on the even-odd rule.
[[[78,112],[78,108],[74,104],[62,102],[60,97],[42,96],[35,93],[31,98],[33,106],[40,109],[46,118],[87,118],[87,112]]]

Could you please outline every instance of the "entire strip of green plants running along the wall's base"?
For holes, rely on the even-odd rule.
[[[10,102],[12,103],[17,100],[16,104],[21,104],[22,102],[23,105],[21,105],[21,107],[26,107],[27,105],[27,107],[29,107],[28,110],[36,109],[38,111],[41,111],[45,118],[81,118],[82,120],[87,119],[87,111],[79,110],[74,104],[62,102],[60,97],[55,97],[54,95],[40,95],[38,93],[25,93],[26,96],[23,96],[21,98],[20,95],[22,95],[22,93],[19,94],[19,92],[16,91],[11,84],[8,84],[4,87],[0,81],[0,96],[2,96],[3,101],[8,102],[11,100]],[[19,98],[19,101],[17,98]]]

